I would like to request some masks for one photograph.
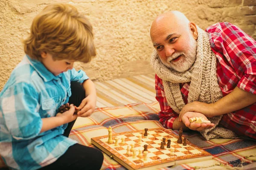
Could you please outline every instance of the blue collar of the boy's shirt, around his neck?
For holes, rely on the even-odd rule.
[[[58,79],[62,77],[63,73],[59,74],[58,76],[53,75],[44,65],[42,62],[31,59],[28,55],[26,55],[29,64],[35,69],[36,72],[44,79],[45,82],[49,82],[52,79]]]

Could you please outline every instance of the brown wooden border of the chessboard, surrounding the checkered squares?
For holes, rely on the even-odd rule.
[[[172,134],[170,129],[165,129],[162,127],[158,128],[152,128],[148,129],[148,133],[150,131],[154,130],[161,130],[165,133],[169,134],[169,137],[171,136],[172,138],[178,138],[175,134]],[[136,131],[130,131],[130,132],[123,132],[123,133],[114,133],[112,134],[112,139],[113,139],[113,144],[115,143],[114,138],[116,136],[123,136],[123,135],[133,135],[133,133],[140,133],[142,135],[142,138],[147,138],[147,136],[144,136],[145,130],[136,130]],[[133,135],[134,136],[134,135]],[[197,162],[197,161],[204,161],[204,160],[210,160],[212,159],[212,155],[205,150],[201,149],[200,147],[197,147],[190,143],[187,140],[187,145],[195,148],[196,150],[200,151],[200,153],[196,153],[193,155],[186,155],[186,156],[171,156],[172,158],[167,158],[167,159],[157,159],[154,161],[149,161],[149,162],[143,162],[143,163],[134,163],[134,161],[130,161],[126,154],[120,154],[108,144],[108,141],[102,142],[102,139],[108,138],[108,135],[105,136],[99,136],[99,137],[94,137],[91,138],[91,143],[94,144],[96,147],[98,147],[100,150],[105,152],[108,156],[110,156],[112,159],[117,161],[119,164],[127,168],[128,170],[155,170],[157,168],[163,168],[163,167],[169,167],[175,164],[186,164],[186,163],[191,163],[191,162]],[[166,138],[166,143],[167,143]],[[182,137],[183,139],[183,137]],[[119,139],[120,140],[120,139]],[[138,141],[138,140],[134,140]],[[179,145],[179,144],[175,144]],[[182,144],[181,144],[182,145]],[[171,145],[172,146],[172,145]],[[167,150],[167,149],[166,149]],[[143,160],[143,159],[141,159]]]

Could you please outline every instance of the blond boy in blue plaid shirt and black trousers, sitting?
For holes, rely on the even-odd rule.
[[[68,138],[77,116],[96,107],[93,82],[73,69],[96,55],[89,21],[71,5],[49,5],[34,18],[24,50],[0,93],[3,160],[20,170],[100,169],[99,150]],[[66,103],[70,110],[58,113]]]

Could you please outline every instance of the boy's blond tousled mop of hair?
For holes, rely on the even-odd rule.
[[[53,59],[89,62],[96,56],[89,20],[69,4],[46,6],[33,20],[30,35],[23,40],[24,51],[41,61],[41,52]]]

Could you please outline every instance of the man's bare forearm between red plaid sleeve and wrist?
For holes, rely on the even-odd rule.
[[[245,108],[256,102],[256,95],[236,87],[230,94],[213,103],[212,117]]]

